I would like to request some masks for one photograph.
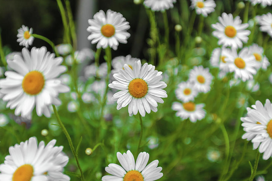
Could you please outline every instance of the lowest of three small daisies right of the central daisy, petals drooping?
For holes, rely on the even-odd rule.
[[[205,104],[195,104],[193,102],[179,103],[174,102],[172,104],[172,110],[177,111],[176,116],[182,119],[189,118],[191,122],[196,122],[205,117],[206,111],[203,109]]]

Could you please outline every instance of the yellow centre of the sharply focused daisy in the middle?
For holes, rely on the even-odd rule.
[[[147,90],[147,83],[141,78],[135,78],[128,84],[128,92],[135,98],[144,97]]]

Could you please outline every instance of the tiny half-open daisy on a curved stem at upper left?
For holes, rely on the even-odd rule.
[[[19,45],[25,46],[28,48],[28,45],[32,45],[34,37],[31,35],[33,32],[33,29],[22,25],[21,28],[18,29],[18,34],[17,34],[17,42],[20,42]]]

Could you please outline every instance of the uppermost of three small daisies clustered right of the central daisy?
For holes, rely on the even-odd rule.
[[[194,83],[194,86],[199,92],[207,93],[211,90],[212,74],[209,68],[203,68],[202,65],[194,66],[189,73],[189,81]]]

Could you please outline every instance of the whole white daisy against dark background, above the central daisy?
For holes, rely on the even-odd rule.
[[[97,43],[96,48],[107,48],[107,46],[117,50],[120,43],[128,43],[127,39],[130,34],[127,30],[130,28],[129,23],[122,14],[112,10],[107,13],[100,10],[88,20],[89,27],[87,31],[91,33],[88,40],[92,40],[92,44]]]

